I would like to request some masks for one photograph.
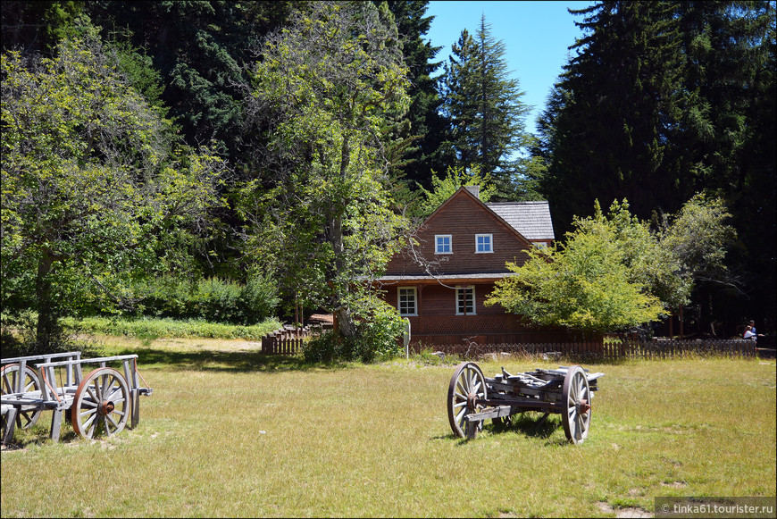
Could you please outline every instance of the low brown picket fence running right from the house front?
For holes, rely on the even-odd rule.
[[[648,342],[629,341],[563,342],[537,344],[460,344],[435,346],[435,350],[447,355],[464,358],[480,358],[489,354],[503,353],[518,356],[564,356],[580,359],[614,360],[625,358],[674,358],[683,356],[755,357],[756,343],[752,340],[653,340]],[[420,347],[415,347],[418,353]]]

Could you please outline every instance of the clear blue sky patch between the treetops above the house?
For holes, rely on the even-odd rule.
[[[486,15],[491,36],[505,43],[505,62],[510,77],[519,81],[525,94],[523,103],[534,109],[526,118],[526,130],[534,131],[535,121],[545,108],[547,95],[562,72],[569,52],[567,47],[581,38],[574,24],[582,16],[573,16],[567,8],[582,9],[593,2],[460,2],[432,0],[426,11],[434,16],[426,39],[432,46],[442,46],[435,61],[447,61],[450,47],[467,29],[474,34],[480,26],[480,15]],[[442,66],[436,72],[442,73]]]

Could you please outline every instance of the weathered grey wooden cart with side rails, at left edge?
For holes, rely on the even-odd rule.
[[[109,363],[121,363],[123,373]],[[98,365],[84,375],[85,364]],[[130,428],[135,427],[140,420],[139,397],[153,391],[142,387],[141,379],[137,355],[82,359],[80,352],[68,352],[2,359],[2,441],[10,442],[16,427],[35,425],[46,410],[54,412],[54,441],[59,440],[63,417],[85,438],[112,436],[128,421]]]

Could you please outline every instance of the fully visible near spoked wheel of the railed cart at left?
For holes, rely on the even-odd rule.
[[[129,387],[113,368],[97,368],[79,384],[71,407],[73,431],[86,438],[124,429],[129,417]]]

